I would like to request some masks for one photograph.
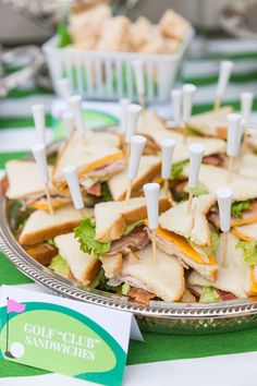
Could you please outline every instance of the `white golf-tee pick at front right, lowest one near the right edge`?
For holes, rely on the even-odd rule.
[[[220,230],[223,233],[223,267],[228,267],[228,232],[231,228],[231,204],[233,192],[231,189],[221,188],[216,192],[219,215],[220,215]]]

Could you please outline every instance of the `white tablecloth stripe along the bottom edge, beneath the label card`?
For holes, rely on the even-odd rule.
[[[257,352],[135,364],[125,367],[124,386],[256,386]],[[87,386],[59,374],[0,378],[0,386]]]

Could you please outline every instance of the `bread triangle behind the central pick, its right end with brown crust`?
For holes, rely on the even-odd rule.
[[[143,156],[140,158],[137,178],[133,181],[132,195],[142,186],[154,180],[160,173],[161,161],[157,156]],[[111,195],[114,201],[125,198],[127,188],[127,168],[111,177],[108,181]]]

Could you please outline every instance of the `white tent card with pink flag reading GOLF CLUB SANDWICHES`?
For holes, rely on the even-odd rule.
[[[1,359],[103,385],[121,385],[133,314],[75,300],[1,289]],[[132,328],[133,327],[133,328]]]

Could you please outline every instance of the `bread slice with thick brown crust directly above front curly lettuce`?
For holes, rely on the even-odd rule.
[[[160,213],[167,210],[170,203],[166,197],[159,200]],[[108,242],[120,239],[127,225],[147,218],[146,200],[144,197],[100,203],[95,206],[96,240]]]

